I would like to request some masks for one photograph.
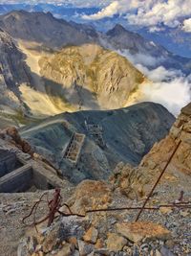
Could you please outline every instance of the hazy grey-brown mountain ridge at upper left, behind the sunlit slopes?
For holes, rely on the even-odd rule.
[[[0,16],[0,27],[16,39],[34,41],[50,48],[93,41],[83,30],[54,18],[51,12],[9,12]]]

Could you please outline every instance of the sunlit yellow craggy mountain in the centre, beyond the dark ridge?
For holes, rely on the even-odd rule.
[[[127,104],[143,75],[117,53],[96,44],[63,48],[53,57],[39,60],[40,74],[50,94],[60,94],[80,108],[111,109]]]

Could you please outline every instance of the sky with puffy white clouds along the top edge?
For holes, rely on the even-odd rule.
[[[129,24],[159,31],[162,25],[191,33],[191,0],[0,0],[0,3],[53,3],[73,4],[76,7],[99,7],[84,19],[98,20],[123,15]]]

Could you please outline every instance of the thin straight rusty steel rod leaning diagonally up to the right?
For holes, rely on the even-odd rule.
[[[161,174],[159,175],[159,178],[157,179],[157,181],[156,181],[155,185],[153,186],[151,192],[149,193],[149,195],[147,196],[146,200],[144,201],[144,203],[143,203],[143,205],[142,205],[142,207],[141,207],[141,209],[140,209],[140,211],[139,211],[139,213],[138,213],[138,216],[137,216],[137,218],[136,218],[136,221],[138,221],[138,219],[139,219],[141,213],[143,212],[143,210],[144,210],[144,208],[145,208],[145,205],[147,204],[147,202],[149,201],[149,199],[152,197],[152,195],[153,195],[153,193],[154,193],[156,187],[157,187],[158,184],[159,184],[159,180],[161,179],[162,175],[165,173],[165,171],[166,171],[166,169],[167,169],[169,163],[170,163],[171,160],[173,159],[175,153],[178,151],[178,149],[179,149],[179,147],[180,147],[180,144],[181,144],[181,140],[180,140],[179,143],[177,144],[175,150],[172,152],[172,154],[171,154],[170,158],[168,159],[168,161],[166,162],[166,164],[165,164],[165,166],[164,166],[164,168],[163,168]]]

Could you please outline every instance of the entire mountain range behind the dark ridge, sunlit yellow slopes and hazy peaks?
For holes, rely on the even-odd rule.
[[[148,69],[162,65],[190,73],[189,58],[175,56],[121,25],[105,34],[51,12],[13,11],[0,16],[0,28],[2,51],[14,53],[11,62],[10,54],[0,57],[6,95],[1,110],[10,117],[8,106],[16,109],[14,120],[18,109],[22,119],[129,105],[131,94],[149,80],[128,57],[142,58]]]

